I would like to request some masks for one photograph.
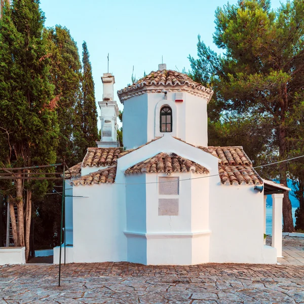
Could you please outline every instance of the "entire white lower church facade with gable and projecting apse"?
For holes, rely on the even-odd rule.
[[[191,209],[185,209],[188,219],[183,218],[181,223],[170,220],[171,226],[169,221],[156,218],[156,184],[139,185],[156,179],[156,174],[124,174],[132,165],[160,152],[174,152],[216,175],[193,179],[188,188],[189,181],[182,185],[181,189],[187,188],[188,195],[183,195]],[[275,263],[276,249],[263,245],[263,194],[254,191],[254,185],[222,185],[217,174],[216,157],[166,134],[120,158],[115,184],[74,186],[74,196],[89,196],[73,198],[74,262]],[[178,175],[184,178],[190,174]],[[131,185],[126,196],[127,179],[137,185]],[[146,211],[142,206],[145,203]],[[129,225],[126,206],[135,207]],[[185,250],[179,253],[180,247]],[[175,252],[175,257],[168,259],[163,252]]]

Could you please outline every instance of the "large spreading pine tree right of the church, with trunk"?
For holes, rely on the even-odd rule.
[[[304,87],[303,1],[287,2],[274,11],[269,0],[239,0],[237,5],[217,8],[215,18],[213,39],[224,55],[199,41],[199,58],[190,57],[193,78],[213,86],[222,113],[267,122],[274,134],[270,149],[278,160],[286,159],[287,118],[297,108],[295,97],[303,95]],[[278,169],[286,185],[287,163],[280,163]],[[283,199],[283,220],[284,231],[292,232],[288,193]]]

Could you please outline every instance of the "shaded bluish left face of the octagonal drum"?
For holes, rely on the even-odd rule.
[[[127,149],[147,142],[147,111],[147,94],[125,100],[123,142]]]

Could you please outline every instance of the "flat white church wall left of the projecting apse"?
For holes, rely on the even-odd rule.
[[[127,260],[125,186],[79,185],[73,196],[85,196],[73,198],[74,262]]]

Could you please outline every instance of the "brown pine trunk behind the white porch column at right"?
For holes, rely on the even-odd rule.
[[[279,127],[279,154],[280,158],[283,160],[286,153],[286,138],[285,138],[285,128],[281,125]],[[287,163],[280,163],[280,182],[287,186]],[[292,209],[291,202],[289,200],[288,191],[284,191],[283,198],[283,232],[294,232],[293,219],[292,219]]]

